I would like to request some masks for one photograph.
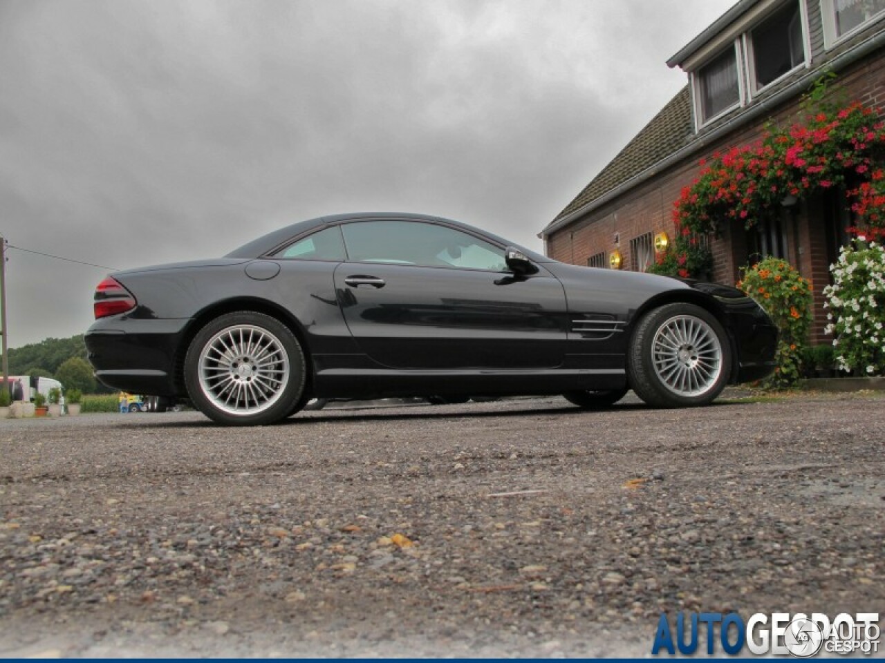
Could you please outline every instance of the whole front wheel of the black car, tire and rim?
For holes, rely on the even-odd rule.
[[[727,333],[711,313],[694,304],[666,304],[636,324],[627,379],[654,408],[708,405],[728,383],[731,357]]]

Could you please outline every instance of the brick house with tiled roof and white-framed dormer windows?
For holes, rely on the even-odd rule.
[[[757,141],[789,121],[825,71],[847,100],[885,108],[885,0],[740,0],[667,61],[689,84],[540,233],[547,255],[644,271],[654,238],[704,157]],[[821,291],[850,224],[843,192],[786,198],[779,218],[710,238],[712,279],[734,284],[759,255],[789,260],[812,280],[812,343],[828,342]],[[620,257],[620,265],[617,258]]]

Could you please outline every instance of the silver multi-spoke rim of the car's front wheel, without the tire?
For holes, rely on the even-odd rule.
[[[658,379],[680,396],[702,396],[719,380],[722,346],[712,327],[696,316],[673,316],[658,327],[651,345]]]

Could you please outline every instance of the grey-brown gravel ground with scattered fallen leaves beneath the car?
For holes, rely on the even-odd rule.
[[[737,395],[0,422],[0,655],[645,656],[661,611],[885,613],[885,395]]]

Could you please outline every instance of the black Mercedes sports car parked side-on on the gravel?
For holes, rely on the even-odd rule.
[[[735,288],[558,263],[444,218],[348,214],[289,225],[223,258],[119,271],[86,334],[96,377],[265,424],[312,398],[632,388],[710,403],[773,370],[777,331]]]

